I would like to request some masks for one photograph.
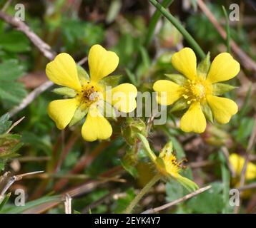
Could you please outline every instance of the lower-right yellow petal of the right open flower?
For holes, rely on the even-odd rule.
[[[215,95],[207,95],[212,114],[219,123],[228,123],[232,115],[237,113],[237,104],[228,98],[220,98]]]

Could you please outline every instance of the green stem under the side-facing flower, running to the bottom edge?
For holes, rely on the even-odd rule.
[[[142,199],[142,197],[144,197],[144,195],[149,192],[149,190],[154,186],[154,184],[156,182],[158,182],[161,179],[161,175],[157,174],[155,175],[152,180],[149,180],[149,182],[147,183],[147,185],[145,185],[142,190],[139,192],[139,194],[132,199],[132,202],[130,202],[129,206],[127,207],[127,209],[124,210],[124,214],[131,214],[132,213],[132,209],[134,209],[134,207],[139,203],[140,199]]]

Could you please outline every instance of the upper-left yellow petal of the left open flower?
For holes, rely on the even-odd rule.
[[[59,86],[79,90],[81,84],[77,76],[77,65],[68,53],[60,53],[46,66],[46,76]]]

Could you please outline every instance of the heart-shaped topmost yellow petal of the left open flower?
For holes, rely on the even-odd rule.
[[[97,82],[117,68],[119,58],[116,53],[96,44],[89,51],[88,63],[91,81]]]

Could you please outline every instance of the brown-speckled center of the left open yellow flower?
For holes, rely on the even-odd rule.
[[[97,102],[102,97],[102,91],[99,86],[87,82],[82,86],[81,90],[77,93],[84,108],[89,107],[92,103]]]

